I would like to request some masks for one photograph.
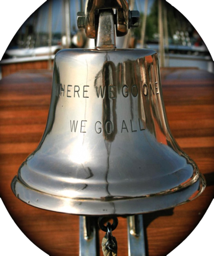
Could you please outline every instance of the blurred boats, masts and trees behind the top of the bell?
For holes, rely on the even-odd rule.
[[[77,27],[86,0],[47,0],[21,24],[0,60],[0,78],[26,69],[52,69],[65,48],[93,48],[94,40]],[[116,38],[117,48],[150,48],[160,67],[194,67],[214,73],[212,56],[194,25],[164,0],[129,0],[140,12],[140,26]]]

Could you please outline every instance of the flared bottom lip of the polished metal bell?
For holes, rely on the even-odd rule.
[[[165,191],[165,193],[142,197],[106,197],[105,199],[94,200],[90,198],[72,199],[41,193],[20,182],[17,176],[11,183],[12,191],[16,197],[31,206],[84,216],[127,216],[172,208],[197,198],[204,191],[205,186],[205,178],[200,174],[195,183],[187,187],[180,186],[175,191],[170,190]]]

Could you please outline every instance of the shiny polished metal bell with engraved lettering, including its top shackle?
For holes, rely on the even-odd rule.
[[[170,132],[157,53],[115,47],[115,20],[119,36],[137,24],[127,2],[88,1],[78,15],[96,48],[56,54],[46,128],[14,194],[81,216],[143,214],[198,197],[205,180]]]

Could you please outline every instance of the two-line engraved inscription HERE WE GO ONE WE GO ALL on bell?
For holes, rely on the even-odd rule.
[[[90,90],[93,89],[92,92]],[[91,94],[93,93],[93,94]],[[72,84],[58,84],[57,87],[57,96],[67,99],[78,99],[78,98],[89,98],[90,95],[94,95],[95,98],[98,100],[101,99],[103,102],[105,101],[105,98],[108,97],[110,100],[115,100],[116,97],[120,96],[124,98],[124,100],[127,102],[127,100],[132,98],[132,102],[134,100],[144,101],[144,99],[149,99],[150,97],[159,97],[156,96],[159,94],[159,84],[158,82],[149,82],[145,83],[142,82],[140,85],[138,84],[124,84],[123,86],[117,88],[113,84],[109,86],[96,86],[96,87],[90,87],[90,86],[78,86],[78,85],[72,85]],[[139,96],[139,97],[137,97]],[[94,100],[94,99],[93,99]],[[109,101],[109,102],[112,102]],[[138,103],[139,104],[139,103]],[[141,102],[140,102],[141,104]],[[141,104],[142,105],[142,104]],[[110,105],[109,105],[110,106]],[[105,105],[106,108],[106,105]],[[110,107],[109,107],[110,108]],[[106,118],[103,118],[102,120],[97,120],[94,122],[93,128],[91,130],[91,125],[89,127],[89,122],[87,120],[69,120],[69,126],[70,126],[70,133],[87,133],[87,132],[94,132],[97,135],[99,134],[105,134],[106,135],[113,135],[113,133],[121,133],[121,134],[127,134],[127,133],[137,133],[145,131],[144,127],[144,121],[142,118],[136,118],[133,119],[125,119],[126,116],[124,116],[124,119],[120,119],[121,121],[118,121],[115,123],[111,119],[111,116],[105,112]],[[87,119],[87,118],[86,118]],[[106,120],[107,119],[107,120]]]

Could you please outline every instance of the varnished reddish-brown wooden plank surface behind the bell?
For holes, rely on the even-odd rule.
[[[207,187],[192,202],[144,215],[149,256],[169,255],[186,240],[204,217],[214,195],[214,75],[198,69],[161,69],[161,82],[172,133],[198,164]],[[2,208],[3,242],[10,242],[10,246],[5,245],[9,255],[11,252],[29,255],[31,250],[50,256],[79,255],[78,216],[27,205],[10,188],[20,164],[36,148],[43,134],[51,85],[52,71],[48,70],[19,71],[0,82],[0,195],[18,229],[39,248],[28,244]],[[212,219],[206,218],[208,227],[213,225]],[[191,236],[185,242],[183,250],[189,251],[188,255],[210,245],[207,241],[200,244],[203,237],[207,238],[206,227],[200,226],[194,239]],[[101,243],[104,232],[99,234]],[[119,218],[113,235],[118,255],[128,256],[126,218]]]

